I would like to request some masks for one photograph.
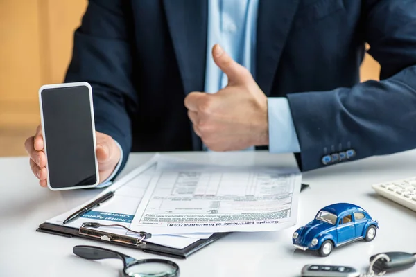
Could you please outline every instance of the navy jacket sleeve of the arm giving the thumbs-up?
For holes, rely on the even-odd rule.
[[[363,1],[363,9],[361,31],[381,81],[288,94],[302,170],[346,148],[352,160],[416,148],[416,1]]]

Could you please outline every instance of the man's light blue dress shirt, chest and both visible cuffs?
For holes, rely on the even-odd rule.
[[[278,0],[275,0],[278,1]],[[248,69],[256,79],[257,8],[259,0],[209,0],[207,66],[205,92],[216,93],[228,84],[227,75],[214,63],[211,49],[221,47],[239,64]],[[286,98],[268,98],[269,151],[271,153],[300,152],[299,141],[293,125],[291,109]],[[119,145],[119,143],[117,143]],[[109,186],[118,172],[121,159],[114,172],[99,187]],[[203,145],[205,150],[207,147]],[[247,150],[254,150],[254,146]]]

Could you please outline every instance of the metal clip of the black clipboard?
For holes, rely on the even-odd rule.
[[[97,230],[98,227],[100,226],[105,226],[105,227],[121,227],[124,228],[132,233],[136,233],[137,235],[139,235],[139,238],[135,238],[135,237],[129,237],[127,235],[119,235],[119,234],[115,234],[115,233],[108,233],[105,231],[100,231]],[[121,243],[125,243],[125,244],[130,244],[130,245],[135,245],[135,247],[141,247],[144,246],[144,244],[146,244],[146,242],[144,240],[148,239],[148,238],[152,238],[152,234],[151,233],[146,233],[146,232],[136,232],[136,231],[132,231],[130,229],[128,229],[127,227],[120,225],[120,224],[100,224],[98,222],[84,222],[81,226],[80,229],[78,231],[79,235],[83,236],[87,236],[87,237],[92,237],[92,238],[99,238],[101,240],[105,240],[107,242],[121,242]]]

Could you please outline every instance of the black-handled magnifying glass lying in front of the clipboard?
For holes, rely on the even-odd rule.
[[[89,245],[77,245],[73,247],[73,253],[88,260],[121,259],[125,277],[179,277],[179,266],[170,260],[136,260],[114,250]]]

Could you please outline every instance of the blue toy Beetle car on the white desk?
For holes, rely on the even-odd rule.
[[[328,256],[333,248],[357,240],[370,242],[376,237],[379,222],[363,208],[349,203],[332,204],[322,208],[315,220],[293,233],[296,248],[318,250],[322,257]]]

